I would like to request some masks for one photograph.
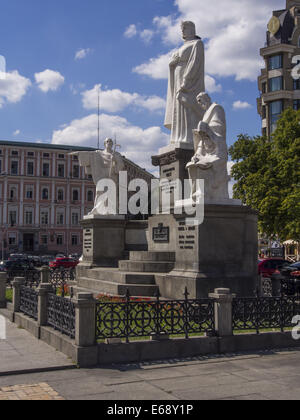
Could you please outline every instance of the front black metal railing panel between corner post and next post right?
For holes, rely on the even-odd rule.
[[[214,300],[132,300],[129,293],[117,302],[96,304],[96,340],[215,334]]]

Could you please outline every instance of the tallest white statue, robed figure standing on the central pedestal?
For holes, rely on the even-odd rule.
[[[183,22],[181,28],[184,45],[170,61],[165,127],[171,130],[171,144],[193,146],[193,130],[203,117],[197,95],[205,92],[204,46],[193,22]]]

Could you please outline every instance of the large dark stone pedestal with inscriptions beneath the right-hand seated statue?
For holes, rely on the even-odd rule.
[[[207,297],[217,288],[253,296],[257,287],[257,213],[245,206],[206,205],[204,222],[186,224],[186,215],[154,216],[149,220],[149,249],[176,252],[173,271],[156,276],[162,296]],[[153,240],[152,230],[169,227],[168,242]],[[159,231],[158,231],[159,232]]]

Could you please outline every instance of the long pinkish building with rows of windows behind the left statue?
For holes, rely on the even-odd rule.
[[[94,207],[95,185],[74,151],[93,148],[0,141],[0,257],[82,253],[80,220]],[[128,182],[154,178],[126,159]]]

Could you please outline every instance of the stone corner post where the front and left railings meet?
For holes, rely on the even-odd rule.
[[[92,293],[78,293],[75,299],[75,344],[78,347],[95,345],[96,301]]]

